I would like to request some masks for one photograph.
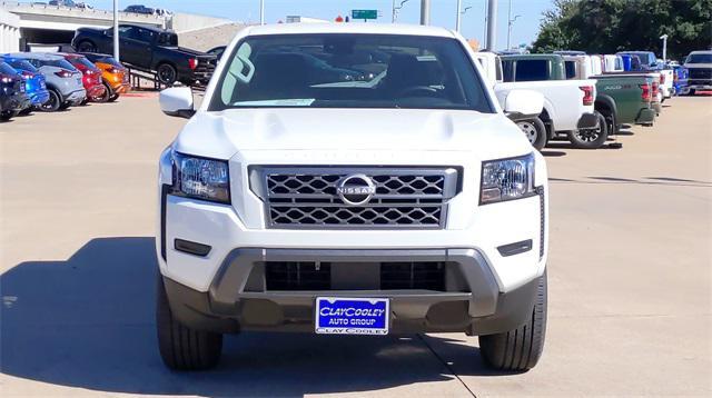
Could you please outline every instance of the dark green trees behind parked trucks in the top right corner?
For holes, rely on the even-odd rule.
[[[712,47],[712,0],[555,0],[543,14],[535,52],[650,50],[669,58]]]

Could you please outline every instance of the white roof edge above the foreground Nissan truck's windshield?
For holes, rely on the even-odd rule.
[[[392,23],[278,23],[248,27],[247,34],[304,34],[304,33],[370,33],[408,34],[454,38],[455,34],[438,27]]]

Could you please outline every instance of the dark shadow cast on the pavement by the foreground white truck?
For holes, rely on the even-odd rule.
[[[1,371],[108,392],[301,396],[453,380],[453,364],[432,351],[437,346],[455,369],[491,375],[464,335],[243,334],[226,338],[217,369],[171,372],[157,349],[155,261],[154,238],[98,238],[67,261],[8,270],[0,277]]]

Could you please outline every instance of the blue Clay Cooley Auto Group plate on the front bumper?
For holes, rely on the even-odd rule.
[[[317,297],[315,307],[319,335],[388,335],[387,298]]]

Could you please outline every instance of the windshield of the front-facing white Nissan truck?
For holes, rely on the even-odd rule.
[[[458,41],[396,34],[257,36],[226,61],[209,110],[415,108],[493,112]]]

